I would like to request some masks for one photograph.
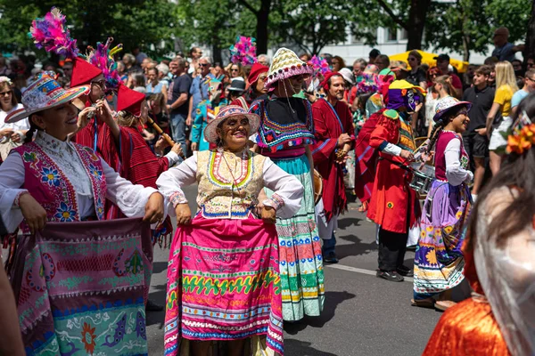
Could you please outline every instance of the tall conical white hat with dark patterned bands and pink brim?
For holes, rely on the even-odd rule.
[[[301,61],[297,54],[288,48],[279,48],[273,56],[269,67],[266,87],[272,87],[279,80],[299,75],[312,75],[314,69],[308,63]]]

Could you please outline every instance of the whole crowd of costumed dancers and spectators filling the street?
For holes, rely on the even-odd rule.
[[[284,323],[324,310],[353,197],[376,276],[413,277],[407,303],[444,312],[425,355],[535,353],[535,63],[506,28],[463,73],[416,50],[224,65],[108,39],[83,56],[55,8],[30,36],[61,62],[0,57],[5,354],[147,354],[161,310],[166,355],[283,354]]]

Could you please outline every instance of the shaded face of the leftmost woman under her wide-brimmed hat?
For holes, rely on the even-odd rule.
[[[71,102],[39,111],[31,117],[35,125],[60,141],[65,141],[68,134],[78,129],[78,109]]]

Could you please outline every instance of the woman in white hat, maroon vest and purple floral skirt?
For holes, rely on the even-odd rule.
[[[435,180],[424,203],[421,234],[415,256],[413,305],[445,311],[455,303],[451,288],[465,277],[461,252],[472,197],[466,185],[473,174],[461,134],[472,104],[449,96],[435,109],[428,150],[435,152]],[[436,147],[435,147],[436,143]]]

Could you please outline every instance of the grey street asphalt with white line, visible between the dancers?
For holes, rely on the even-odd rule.
[[[194,212],[196,187],[186,189]],[[375,277],[374,223],[351,203],[337,231],[338,264],[325,264],[325,309],[321,316],[284,326],[289,356],[421,355],[440,312],[410,305],[412,279],[401,283]],[[150,298],[163,304],[169,250],[156,247]],[[412,266],[414,253],[407,252]],[[469,293],[461,286],[457,295]],[[163,354],[164,312],[147,315],[150,355]]]

